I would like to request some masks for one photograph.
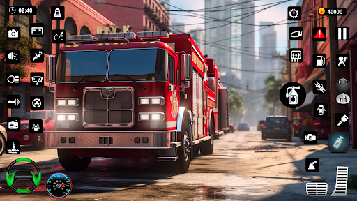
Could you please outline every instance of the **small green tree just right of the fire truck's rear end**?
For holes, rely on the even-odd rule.
[[[238,91],[229,89],[229,116],[231,119],[241,119],[243,116],[243,98]]]

